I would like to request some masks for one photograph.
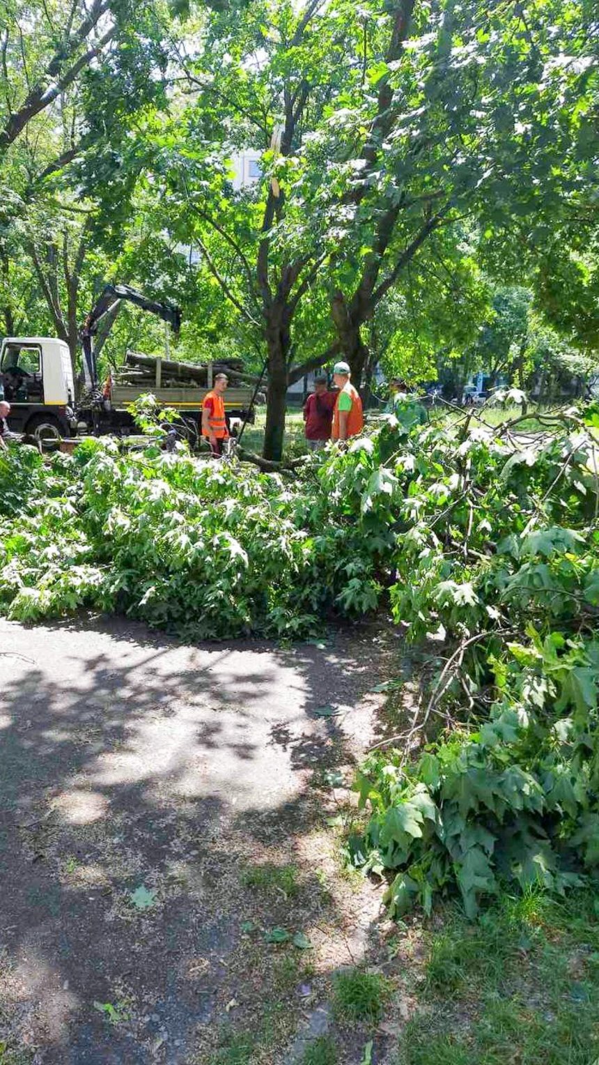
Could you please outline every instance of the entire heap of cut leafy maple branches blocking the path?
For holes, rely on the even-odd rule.
[[[154,445],[87,440],[49,465],[14,452],[0,606],[305,636],[390,588],[410,637],[451,653],[401,750],[359,777],[371,817],[355,863],[397,870],[396,913],[455,883],[469,914],[503,878],[562,890],[599,862],[599,458],[576,410],[546,421],[522,438],[476,414],[412,431],[389,417],[297,479]],[[406,765],[439,720],[448,732]]]

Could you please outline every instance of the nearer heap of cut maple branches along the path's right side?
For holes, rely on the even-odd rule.
[[[396,620],[453,651],[359,774],[353,859],[397,870],[396,914],[455,885],[469,916],[502,882],[563,891],[599,866],[599,446],[575,412],[529,440],[468,420],[378,446]]]

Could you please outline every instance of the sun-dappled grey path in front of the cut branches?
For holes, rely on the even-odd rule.
[[[280,650],[0,619],[2,1063],[298,1055],[377,935],[327,818],[397,653],[380,626]],[[270,1049],[217,1056],[263,1015]]]

